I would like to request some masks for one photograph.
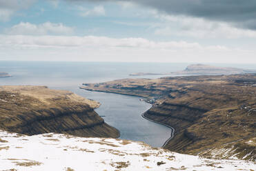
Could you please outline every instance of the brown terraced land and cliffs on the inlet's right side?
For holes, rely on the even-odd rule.
[[[237,74],[126,79],[85,88],[154,99],[144,117],[175,128],[175,136],[165,145],[169,150],[255,161],[255,143],[247,143],[255,137],[255,85],[256,74]],[[237,153],[213,154],[233,149],[226,144],[233,144]]]

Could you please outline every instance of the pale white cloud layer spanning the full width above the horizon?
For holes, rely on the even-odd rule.
[[[0,35],[0,60],[256,63],[255,51],[143,38]]]

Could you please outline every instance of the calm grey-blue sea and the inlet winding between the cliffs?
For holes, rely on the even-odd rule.
[[[160,76],[130,77],[133,72],[167,73],[183,70],[189,63],[93,63],[93,62],[46,62],[46,61],[0,61],[0,72],[8,72],[10,78],[1,78],[0,85],[41,85],[59,90],[70,90],[82,97],[101,103],[97,113],[106,123],[121,132],[121,139],[144,141],[160,147],[170,137],[170,128],[147,121],[141,113],[150,104],[139,97],[79,89],[82,83],[95,83],[124,78],[157,78]],[[256,65],[228,65],[255,69]],[[163,75],[161,75],[163,77]]]

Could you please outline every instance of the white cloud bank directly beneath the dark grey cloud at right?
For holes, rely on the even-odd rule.
[[[155,26],[155,34],[195,38],[237,39],[256,37],[255,30],[235,28],[228,23],[204,19],[155,14],[163,23]]]

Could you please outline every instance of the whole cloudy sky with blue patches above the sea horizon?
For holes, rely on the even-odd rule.
[[[0,0],[0,60],[256,63],[255,0]]]

